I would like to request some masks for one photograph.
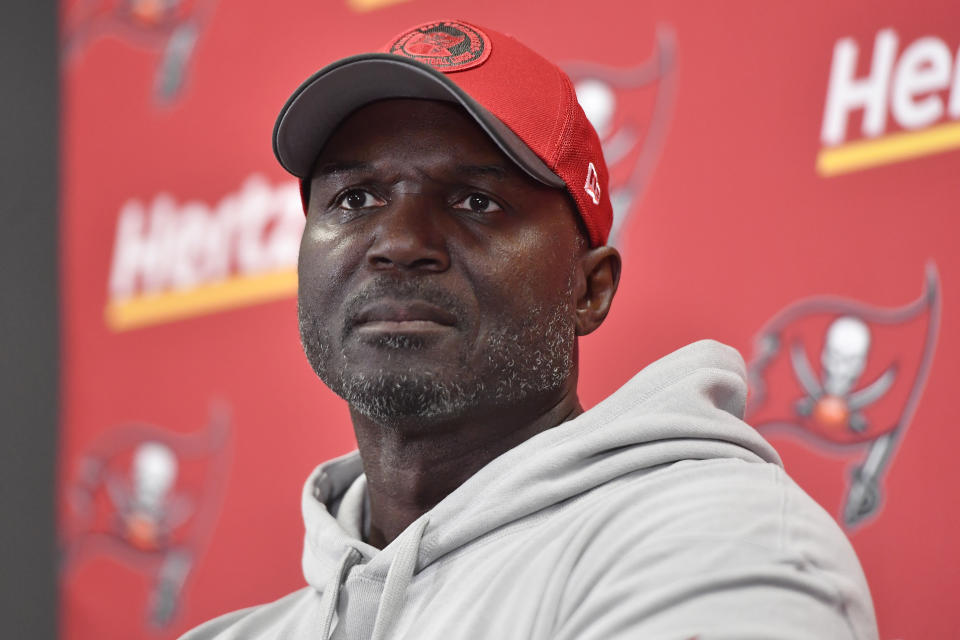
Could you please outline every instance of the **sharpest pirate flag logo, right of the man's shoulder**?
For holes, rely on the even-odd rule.
[[[902,307],[807,298],[756,336],[747,420],[858,458],[840,514],[848,529],[880,509],[883,476],[923,393],[939,323],[940,283],[931,264],[920,297]]]

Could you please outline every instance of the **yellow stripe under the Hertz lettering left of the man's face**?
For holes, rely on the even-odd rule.
[[[297,292],[295,269],[205,284],[183,291],[166,291],[136,298],[113,300],[105,311],[107,326],[127,331],[193,316],[269,302]]]

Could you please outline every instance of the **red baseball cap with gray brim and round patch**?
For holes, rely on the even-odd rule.
[[[360,107],[386,98],[459,104],[530,177],[565,188],[591,246],[613,223],[600,139],[559,67],[516,39],[463,20],[407,29],[378,53],[338,60],[293,92],[273,129],[273,152],[300,178],[304,211],[310,174],[333,131]]]

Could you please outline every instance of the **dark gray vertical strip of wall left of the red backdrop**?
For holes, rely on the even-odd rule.
[[[57,6],[0,20],[0,619],[56,636]]]

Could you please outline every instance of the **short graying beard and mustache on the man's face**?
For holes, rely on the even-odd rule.
[[[452,302],[437,300],[437,295],[416,282],[399,289],[401,295],[446,302],[447,308]],[[550,308],[535,305],[522,318],[504,318],[481,347],[486,354],[482,365],[471,365],[468,354],[463,353],[456,368],[443,377],[431,370],[350,371],[345,355],[331,353],[330,336],[322,319],[310,315],[303,305],[298,305],[300,340],[316,374],[353,410],[381,423],[410,418],[436,421],[463,415],[478,406],[509,406],[561,388],[574,361],[576,329],[569,307],[572,291],[571,275],[567,291]],[[408,336],[386,336],[378,346],[385,358],[392,358],[392,351],[402,355],[399,352],[424,345]]]

